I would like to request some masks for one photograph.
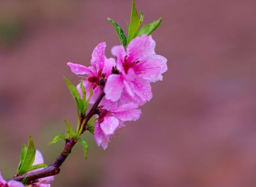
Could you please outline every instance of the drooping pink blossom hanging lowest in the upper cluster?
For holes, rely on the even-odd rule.
[[[124,126],[124,121],[139,119],[141,110],[137,108],[138,104],[128,103],[111,110],[101,109],[94,130],[94,139],[98,146],[106,149],[110,138]]]

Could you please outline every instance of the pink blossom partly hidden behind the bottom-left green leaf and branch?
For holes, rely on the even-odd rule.
[[[44,163],[44,158],[43,158],[42,153],[39,150],[36,150],[35,160],[34,160],[32,165],[38,165],[38,164],[43,164],[43,163]],[[38,169],[35,169],[35,170],[32,170],[32,171],[29,171],[27,173],[36,172],[36,171],[39,171],[39,170],[42,170],[42,169],[44,169],[44,168],[38,168]],[[50,186],[49,185],[50,182],[52,182],[53,180],[54,180],[54,176],[44,177],[44,178],[35,180],[35,182],[36,182],[35,184],[41,184],[40,187],[44,187],[44,186],[48,187],[48,186]]]

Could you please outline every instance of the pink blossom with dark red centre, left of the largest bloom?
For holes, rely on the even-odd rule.
[[[89,67],[71,62],[67,63],[71,68],[71,71],[76,75],[87,75],[86,80],[83,81],[83,85],[86,93],[88,93],[86,99],[89,97],[90,87],[93,89],[93,96],[90,99],[91,104],[96,101],[98,95],[105,86],[108,76],[112,73],[112,68],[116,65],[114,58],[107,59],[105,57],[105,47],[105,42],[102,42],[95,47],[90,61],[91,66]],[[82,97],[80,84],[77,85],[77,89]],[[115,102],[107,101],[106,99],[103,99],[100,104],[108,106],[109,108],[115,107],[116,105]]]

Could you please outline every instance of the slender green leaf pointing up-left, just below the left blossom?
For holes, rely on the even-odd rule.
[[[76,86],[74,86],[71,82],[69,82],[69,80],[67,80],[66,77],[63,77],[63,78],[66,82],[66,85],[68,86],[69,91],[71,92],[71,95],[73,96],[73,99],[76,102],[76,108],[81,114],[84,114],[86,107],[83,105],[83,101],[80,97],[78,90],[76,89]]]

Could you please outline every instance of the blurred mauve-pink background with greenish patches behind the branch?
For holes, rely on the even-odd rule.
[[[0,0],[0,171],[12,177],[34,137],[46,164],[76,109],[67,62],[89,65],[94,47],[119,44],[132,0]],[[143,114],[106,151],[86,132],[53,187],[256,187],[256,2],[137,0],[144,23],[163,17],[156,53],[168,59]]]

